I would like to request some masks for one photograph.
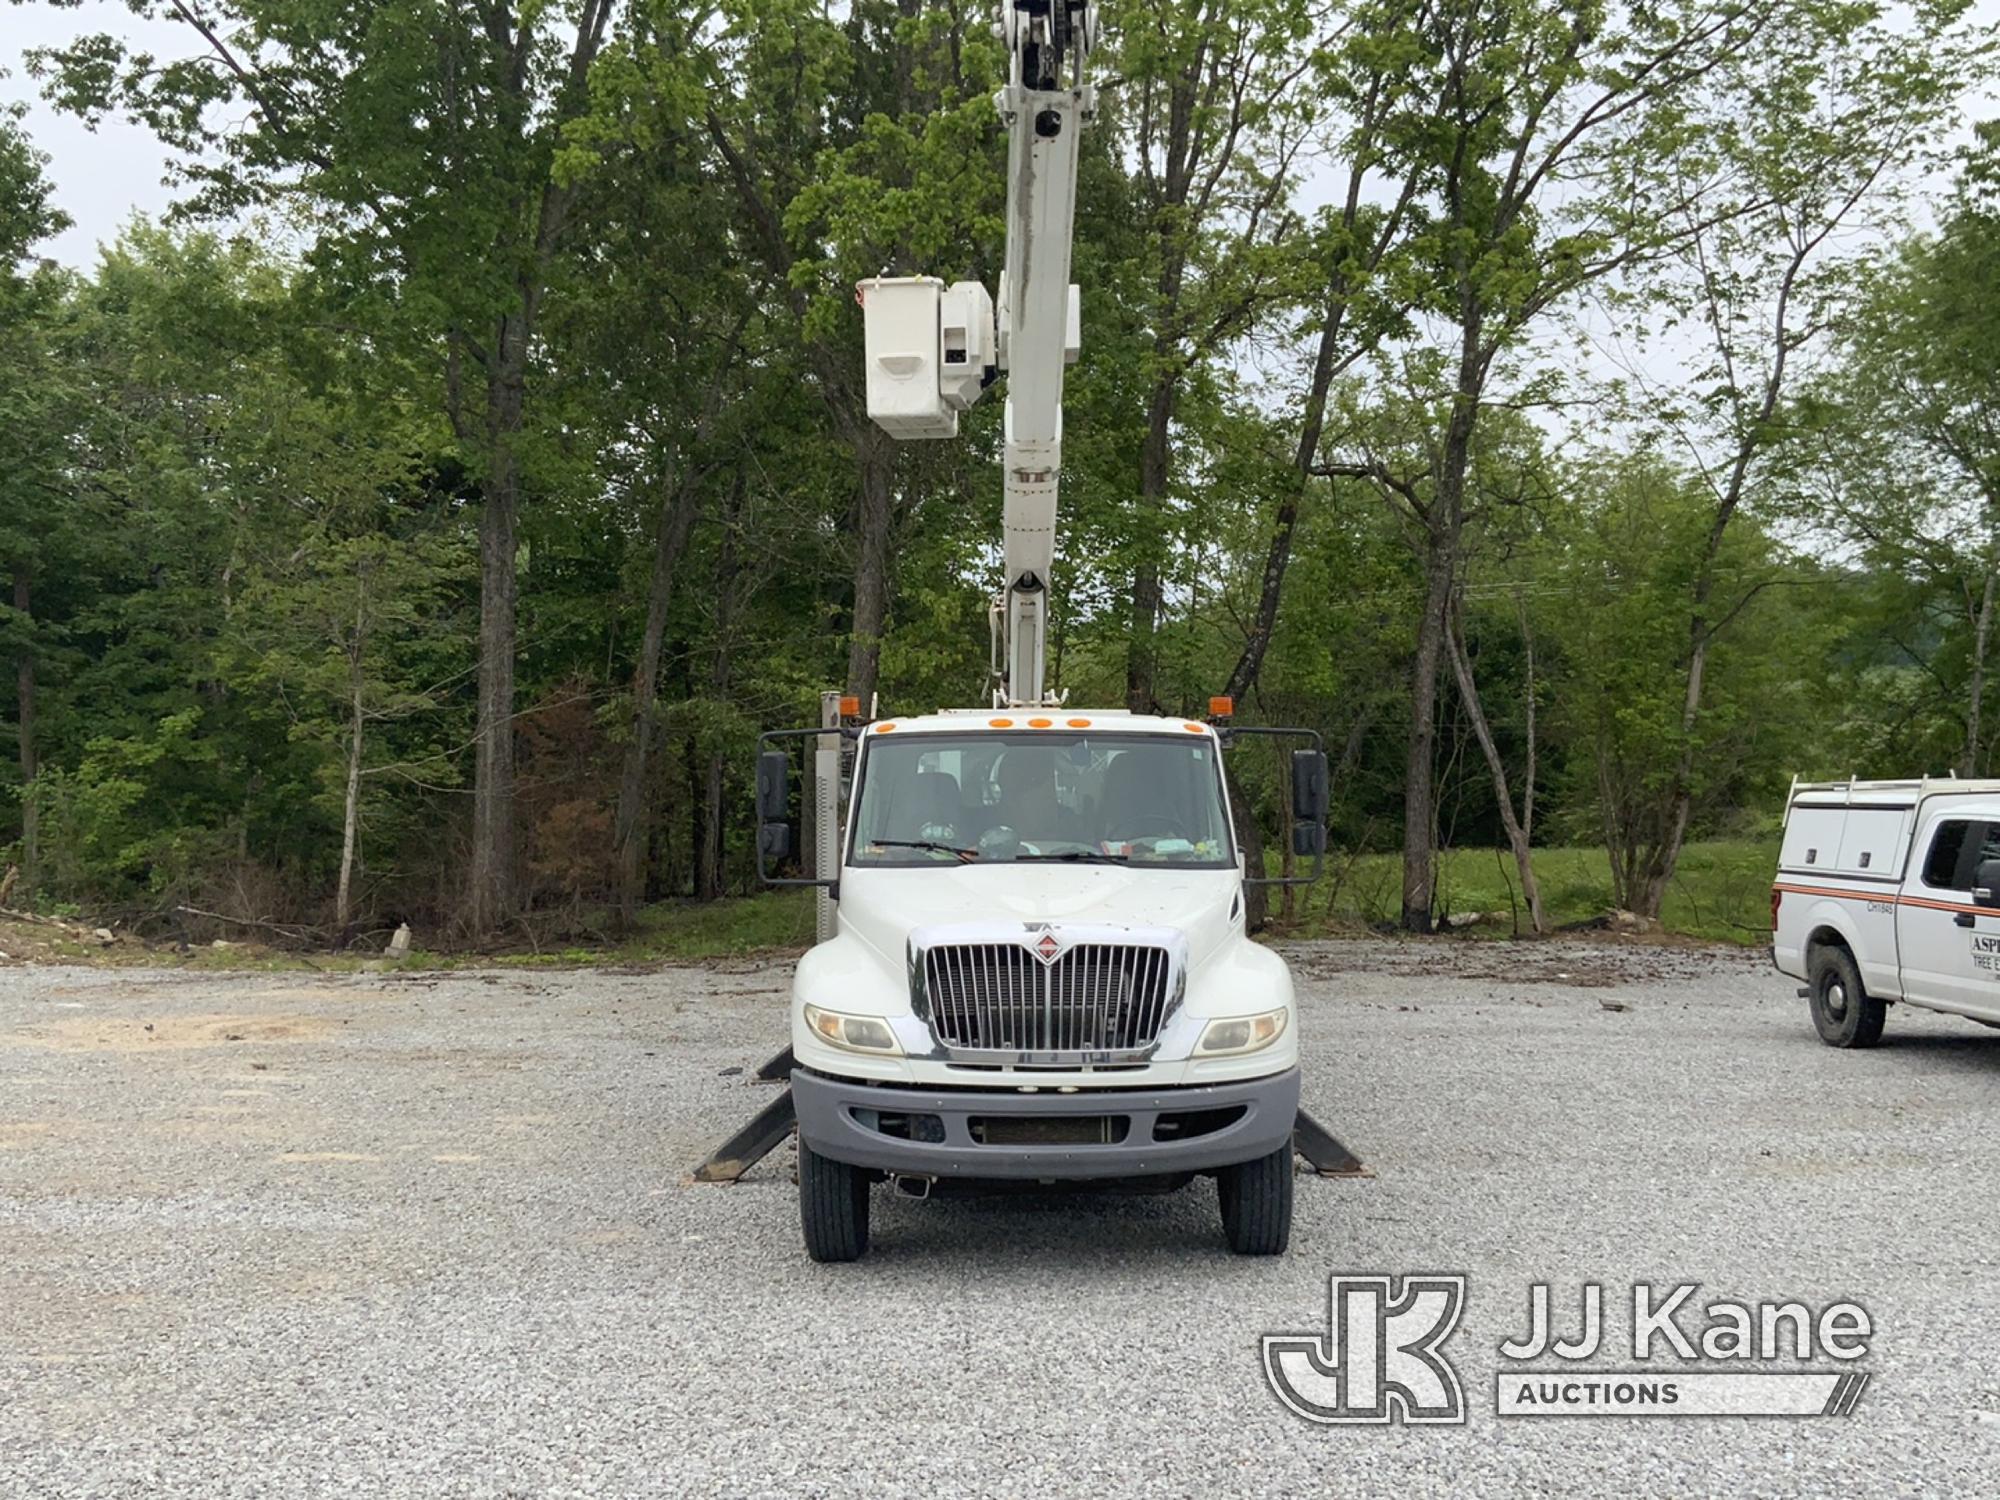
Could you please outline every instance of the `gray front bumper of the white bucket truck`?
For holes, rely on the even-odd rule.
[[[1132,1178],[1206,1172],[1268,1156],[1292,1140],[1298,1068],[1270,1078],[1188,1088],[1094,1088],[1076,1094],[1020,1094],[1000,1088],[884,1088],[800,1068],[792,1074],[798,1136],[820,1156],[878,1172],[926,1178]],[[1186,1140],[1154,1140],[1162,1114],[1228,1110],[1242,1118]],[[868,1114],[936,1116],[944,1140],[902,1140],[868,1124]],[[1092,1146],[988,1146],[970,1122],[1032,1116],[1120,1116],[1124,1140]]]

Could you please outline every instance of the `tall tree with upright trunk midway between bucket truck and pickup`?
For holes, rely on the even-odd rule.
[[[1824,70],[1868,74],[1886,116],[1842,120],[1838,140],[1802,132],[1822,160],[1852,166],[1896,138],[1912,110],[1934,106],[1936,80],[1952,62],[1940,46],[1948,18],[1926,16],[1918,34],[1900,36],[1872,28],[1868,14],[1816,0],[1646,10],[1502,0],[1434,12],[1416,28],[1438,80],[1430,128],[1410,132],[1426,164],[1422,306],[1432,338],[1396,346],[1384,372],[1432,412],[1424,458],[1396,466],[1350,442],[1330,464],[1368,478],[1410,516],[1424,560],[1404,776],[1404,926],[1428,930],[1432,920],[1438,674],[1476,520],[1468,478],[1482,416],[1558,392],[1536,340],[1584,288],[1638,278],[1734,236],[1736,220],[1766,206],[1774,184],[1800,168],[1798,152],[1780,166],[1780,142],[1744,130],[1746,110],[1778,118],[1824,98]],[[1872,56],[1880,62],[1870,74]],[[1890,80],[1902,82],[1900,92]],[[1752,158],[1764,160],[1762,176]],[[1454,676],[1476,690],[1468,674]]]

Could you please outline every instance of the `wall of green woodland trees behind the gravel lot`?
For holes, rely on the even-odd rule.
[[[34,68],[170,148],[166,226],[38,262],[0,120],[22,890],[602,930],[748,886],[748,750],[822,688],[984,694],[998,402],[888,440],[854,282],[998,274],[986,10],[128,8],[186,46]],[[1320,728],[1412,926],[1446,844],[1602,842],[1658,910],[1792,772],[1994,766],[1992,128],[1924,190],[1962,6],[1104,22],[1072,702]]]

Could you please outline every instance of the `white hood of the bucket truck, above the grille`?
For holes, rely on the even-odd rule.
[[[840,930],[902,974],[910,932],[964,922],[1176,928],[1188,966],[1240,928],[1236,870],[1118,864],[992,864],[856,870],[840,876]]]

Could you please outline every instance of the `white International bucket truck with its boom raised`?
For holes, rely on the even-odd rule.
[[[1006,374],[1006,582],[992,704],[816,736],[822,942],[792,980],[806,1250],[868,1248],[876,1182],[1220,1186],[1228,1242],[1280,1254],[1292,1218],[1298,1016],[1244,932],[1222,750],[1304,734],[1292,848],[1318,870],[1326,756],[1304,730],[1064,708],[1044,684],[1062,468],[1076,140],[1094,112],[1088,0],[1004,0],[1008,244],[994,298],[926,276],[860,284],[868,408],[948,438]],[[838,738],[836,738],[838,736]],[[846,762],[852,760],[852,766]],[[790,760],[758,758],[758,866],[792,852]]]

